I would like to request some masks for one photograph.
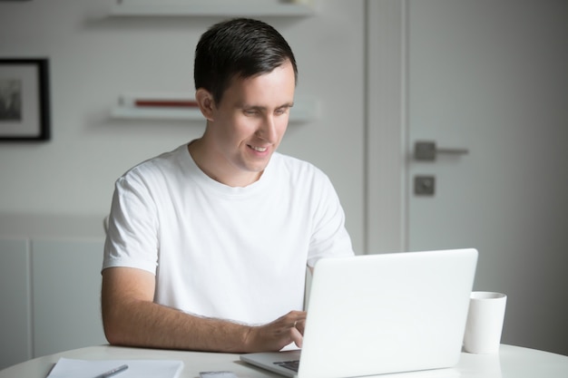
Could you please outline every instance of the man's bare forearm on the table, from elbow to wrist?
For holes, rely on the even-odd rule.
[[[103,309],[109,343],[163,349],[249,352],[250,326],[189,315],[148,301],[132,300]]]

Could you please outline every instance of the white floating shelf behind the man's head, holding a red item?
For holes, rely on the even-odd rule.
[[[191,97],[180,94],[122,95],[118,105],[111,111],[111,117],[132,120],[205,121],[201,111],[191,106],[136,106],[138,101],[191,102],[191,100]],[[294,123],[314,121],[318,115],[318,101],[297,99],[290,109],[289,121]]]

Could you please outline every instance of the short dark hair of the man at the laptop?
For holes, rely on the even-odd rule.
[[[206,89],[219,103],[233,78],[270,73],[287,61],[297,81],[294,53],[274,27],[250,18],[223,21],[202,34],[195,48],[195,89]]]

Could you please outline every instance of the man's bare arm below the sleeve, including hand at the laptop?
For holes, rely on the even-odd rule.
[[[103,326],[110,344],[229,353],[278,351],[291,342],[301,346],[305,312],[292,311],[269,325],[239,325],[155,304],[154,290],[150,272],[103,270]]]

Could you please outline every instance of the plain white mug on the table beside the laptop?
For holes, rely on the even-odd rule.
[[[501,344],[507,296],[502,293],[476,291],[471,294],[464,349],[473,354],[496,354]]]

